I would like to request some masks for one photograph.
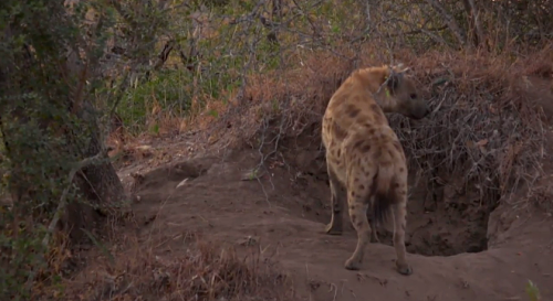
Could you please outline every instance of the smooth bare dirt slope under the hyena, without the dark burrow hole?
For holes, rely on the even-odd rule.
[[[351,227],[342,236],[323,234],[330,216],[324,180],[276,166],[260,181],[248,181],[251,179],[244,174],[258,162],[255,152],[239,152],[191,159],[177,164],[177,172],[163,168],[143,174],[135,187],[138,202],[134,211],[152,222],[143,226],[140,235],[169,241],[159,244],[160,252],[185,252],[184,234],[204,234],[244,251],[259,248],[284,266],[303,300],[528,300],[529,279],[538,284],[543,300],[553,298],[549,286],[553,281],[553,224],[543,213],[514,214],[500,206],[487,223],[486,251],[427,257],[424,255],[450,255],[439,251],[441,247],[431,240],[420,243],[420,237],[431,233],[417,236],[415,229],[428,221],[442,223],[452,240],[446,248],[455,250],[451,254],[482,248],[462,246],[472,240],[455,233],[458,227],[462,232],[461,222],[470,212],[456,217],[458,224],[447,225],[451,218],[439,222],[437,214],[426,216],[432,213],[415,193],[408,221],[408,259],[414,275],[395,271],[395,252],[387,243],[369,245],[362,270],[348,271],[343,265],[355,248],[356,235]],[[128,178],[129,172],[121,174]],[[455,241],[457,238],[462,243]],[[415,244],[418,249],[415,241],[420,243]]]

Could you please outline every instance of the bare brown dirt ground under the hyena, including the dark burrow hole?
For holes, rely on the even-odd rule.
[[[534,99],[553,116],[553,95]],[[530,300],[529,280],[542,300],[553,300],[553,207],[536,208],[522,192],[500,205],[480,202],[451,176],[440,175],[446,184],[436,186],[411,169],[406,245],[414,273],[395,270],[392,235],[382,230],[382,243],[367,247],[362,269],[348,271],[344,262],[356,245],[349,218],[344,216],[342,236],[323,233],[331,211],[321,146],[282,141],[284,153],[253,173],[258,150],[206,154],[189,138],[137,141],[123,158],[131,164],[119,168],[136,195],[133,235],[156,260],[180,260],[190,237],[202,237],[276,261],[299,300]],[[546,158],[553,152],[547,144]],[[286,147],[301,151],[285,153]],[[543,169],[550,172],[541,184],[549,186],[553,159]]]

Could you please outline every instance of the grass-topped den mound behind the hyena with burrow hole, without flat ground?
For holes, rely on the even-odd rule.
[[[366,50],[374,52],[378,50]],[[422,87],[430,87],[425,97],[432,109],[422,121],[388,116],[410,165],[408,250],[441,256],[486,250],[491,212],[544,176],[546,117],[535,99],[549,98],[536,98],[543,93],[529,78],[550,80],[551,52],[545,49],[514,64],[480,53],[404,52],[395,58],[413,68]],[[295,184],[303,185],[302,215],[326,223],[321,118],[355,64],[325,54],[304,64],[285,76],[253,76],[248,106],[229,108],[218,135],[243,139],[263,160],[281,161],[294,179],[302,174]],[[375,64],[366,57],[358,65]],[[392,244],[389,234],[385,237]]]

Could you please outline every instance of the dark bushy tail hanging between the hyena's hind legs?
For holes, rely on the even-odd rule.
[[[392,203],[392,183],[395,176],[393,163],[379,164],[375,176],[375,194],[373,200],[373,218],[376,224],[383,225],[390,209]]]

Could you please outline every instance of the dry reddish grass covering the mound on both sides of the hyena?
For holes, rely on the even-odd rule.
[[[543,175],[545,126],[529,76],[551,78],[551,49],[517,60],[488,52],[397,52],[395,60],[411,66],[434,109],[419,122],[388,116],[419,179],[472,191],[491,208],[521,186],[531,187]],[[362,53],[359,66],[386,57],[371,46]],[[246,99],[219,112],[206,136],[222,140],[220,147],[263,143],[264,158],[289,138],[320,143],[326,104],[353,69],[352,61],[319,52],[298,68],[252,75]]]

